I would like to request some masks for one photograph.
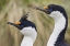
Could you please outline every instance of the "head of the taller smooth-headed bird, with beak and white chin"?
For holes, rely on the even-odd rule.
[[[56,14],[59,15],[59,13],[66,14],[65,9],[57,4],[49,4],[47,7],[44,7],[43,9],[36,7],[35,9],[49,14],[49,16],[51,16],[51,18],[57,16]]]

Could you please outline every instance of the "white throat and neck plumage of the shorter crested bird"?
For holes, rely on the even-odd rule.
[[[21,46],[33,46],[36,37],[37,32],[33,27],[24,27],[22,31],[20,31],[24,38],[22,39]]]

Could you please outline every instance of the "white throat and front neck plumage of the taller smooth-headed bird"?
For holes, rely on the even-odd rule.
[[[66,25],[66,19],[59,11],[51,12],[50,16],[55,20],[55,28],[50,35],[47,46],[55,46],[59,34],[62,32]]]

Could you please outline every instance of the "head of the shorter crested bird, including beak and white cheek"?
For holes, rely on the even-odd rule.
[[[21,30],[21,33],[23,35],[33,35],[36,33],[36,26],[33,22],[27,20],[28,13],[25,13],[20,21],[16,21],[15,23],[8,22],[8,24],[13,25]]]

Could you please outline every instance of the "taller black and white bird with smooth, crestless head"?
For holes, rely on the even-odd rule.
[[[35,7],[35,9],[49,14],[55,20],[55,28],[48,39],[47,46],[69,46],[65,43],[65,34],[68,26],[66,10],[57,4],[49,4],[44,8]]]

